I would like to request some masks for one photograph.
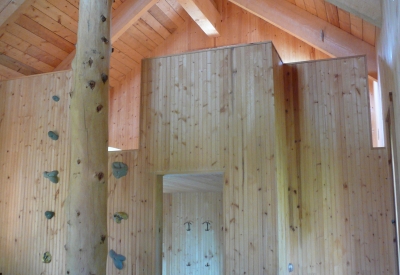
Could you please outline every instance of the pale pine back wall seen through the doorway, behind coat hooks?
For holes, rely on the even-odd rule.
[[[163,203],[162,274],[224,274],[222,192],[169,193]]]

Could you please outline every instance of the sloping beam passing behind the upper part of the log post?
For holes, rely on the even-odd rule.
[[[111,43],[118,40],[144,13],[146,13],[158,0],[127,0],[122,3],[112,15]],[[62,71],[71,68],[75,50],[65,58],[54,71]]]

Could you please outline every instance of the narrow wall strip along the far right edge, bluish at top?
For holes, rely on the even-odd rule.
[[[390,129],[393,146],[393,164],[395,168],[396,198],[400,199],[399,171],[400,163],[400,41],[396,37],[400,35],[400,3],[398,1],[382,1],[382,30],[377,45],[379,85],[382,92],[383,117],[386,118],[389,108],[394,117],[391,117]],[[393,101],[389,101],[389,93],[392,93]],[[388,134],[388,133],[386,133]],[[387,140],[387,139],[386,139]],[[390,140],[390,139],[389,139]],[[400,206],[397,204],[396,220],[400,221]],[[399,223],[397,222],[397,225]],[[399,226],[397,226],[399,230]],[[400,231],[397,231],[400,234]],[[398,247],[399,242],[398,242]]]

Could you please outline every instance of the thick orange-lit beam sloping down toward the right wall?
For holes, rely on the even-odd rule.
[[[375,47],[287,2],[229,0],[239,7],[332,56],[366,55],[368,74],[377,77]]]

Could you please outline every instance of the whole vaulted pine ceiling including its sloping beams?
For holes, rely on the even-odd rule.
[[[208,21],[221,17],[218,3],[226,1],[115,0],[110,39],[114,48],[111,85],[122,81],[143,58],[153,56],[154,50],[187,20],[203,24],[205,32],[211,26],[209,35],[218,35],[212,30],[217,24],[210,25]],[[368,21],[379,25],[379,18],[369,20],[366,12],[361,12],[358,15],[362,19],[330,3],[335,1],[357,13],[343,7],[341,0],[229,0],[232,3],[228,5],[239,5],[292,35],[297,34],[299,39],[305,37],[307,43],[331,56],[349,53],[374,58],[379,28]],[[349,2],[357,1],[368,0]],[[79,0],[0,0],[0,79],[68,69],[77,42],[78,7]],[[301,22],[303,19],[306,23]],[[296,24],[300,24],[297,29],[290,29]],[[310,28],[314,34],[308,38],[302,30],[312,33]],[[341,47],[346,41],[351,45]]]

